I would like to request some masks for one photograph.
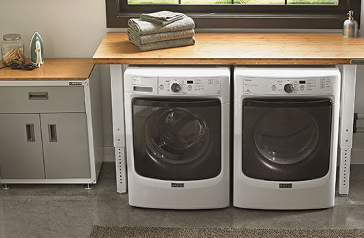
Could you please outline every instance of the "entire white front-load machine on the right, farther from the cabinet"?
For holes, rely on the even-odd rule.
[[[337,67],[234,69],[234,206],[334,206]]]

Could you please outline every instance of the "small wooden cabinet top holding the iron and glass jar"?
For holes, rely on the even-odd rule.
[[[43,65],[32,71],[0,69],[0,80],[85,80],[92,69],[91,58],[45,58]]]

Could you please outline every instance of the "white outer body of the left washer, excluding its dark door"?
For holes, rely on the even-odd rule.
[[[129,66],[124,72],[128,195],[131,206],[205,209],[229,206],[229,67]],[[177,88],[172,91],[172,87]],[[159,180],[135,169],[133,100],[217,99],[221,108],[221,171],[203,180]],[[139,112],[139,111],[138,111]],[[135,142],[139,143],[139,142]],[[168,169],[168,168],[166,168]],[[186,171],[187,173],[187,171]]]

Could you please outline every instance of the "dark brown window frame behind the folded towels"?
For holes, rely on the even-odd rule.
[[[192,5],[130,4],[127,0],[106,1],[106,27],[128,28],[130,18],[141,12],[171,10],[194,19],[196,28],[341,29],[346,13],[354,10],[360,24],[361,0],[339,0],[335,6],[308,5]]]

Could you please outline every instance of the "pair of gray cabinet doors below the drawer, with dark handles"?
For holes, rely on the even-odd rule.
[[[0,114],[1,178],[91,177],[85,113]]]

